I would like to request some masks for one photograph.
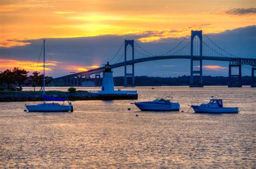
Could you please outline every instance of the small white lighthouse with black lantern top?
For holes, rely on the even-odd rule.
[[[107,64],[105,65],[105,69],[103,71],[102,92],[114,93],[113,72],[111,71],[111,66],[109,62],[107,62]]]

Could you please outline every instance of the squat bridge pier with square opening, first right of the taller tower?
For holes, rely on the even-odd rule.
[[[238,75],[232,75],[232,67],[238,67]],[[242,66],[238,62],[228,66],[228,87],[242,87]]]

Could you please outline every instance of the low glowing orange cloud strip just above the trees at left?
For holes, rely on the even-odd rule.
[[[19,69],[25,69],[26,71],[42,71],[44,69],[44,63],[37,63],[31,61],[19,61],[19,60],[10,60],[10,59],[0,59],[0,71],[6,69],[14,69],[14,67],[19,67]],[[52,66],[57,66],[57,63],[45,63],[45,70],[51,71]]]

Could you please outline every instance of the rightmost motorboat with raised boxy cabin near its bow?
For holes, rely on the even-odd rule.
[[[223,107],[222,99],[210,99],[207,104],[191,105],[196,113],[238,113],[238,107]]]

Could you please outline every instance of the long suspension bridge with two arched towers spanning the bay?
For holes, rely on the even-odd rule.
[[[203,50],[204,49],[204,50]],[[244,58],[232,55],[230,52],[220,48],[213,42],[203,31],[191,31],[191,36],[184,37],[174,48],[161,55],[156,55],[142,48],[134,40],[124,40],[116,55],[110,59],[112,69],[124,66],[124,86],[134,86],[134,64],[148,62],[152,60],[162,59],[190,59],[190,87],[203,87],[203,60],[219,60],[229,62],[228,69],[228,87],[241,87],[241,67],[251,66],[252,71],[252,87],[256,87],[256,58]],[[194,61],[199,62],[196,66],[198,70],[194,70]],[[132,66],[131,73],[127,72],[127,66]],[[232,67],[238,68],[238,75],[232,74]],[[84,80],[89,80],[91,75],[95,75],[95,85],[100,86],[100,73],[103,72],[104,66],[89,71],[83,71],[55,78],[60,82],[71,85],[81,86]],[[194,75],[199,75],[199,80],[195,80]],[[132,84],[127,84],[127,77],[132,78]]]

